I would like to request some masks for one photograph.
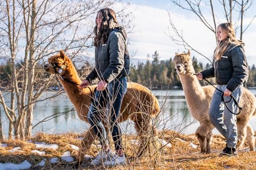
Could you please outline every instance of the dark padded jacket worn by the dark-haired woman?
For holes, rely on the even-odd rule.
[[[95,67],[87,76],[88,81],[99,78],[109,83],[129,74],[130,56],[125,44],[126,37],[124,29],[114,29],[106,44],[99,44],[95,48]]]

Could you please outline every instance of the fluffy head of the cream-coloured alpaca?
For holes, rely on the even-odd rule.
[[[174,57],[174,65],[178,75],[189,74],[191,72],[191,69],[193,69],[192,61],[190,58],[190,50],[188,50],[187,53],[176,53]]]

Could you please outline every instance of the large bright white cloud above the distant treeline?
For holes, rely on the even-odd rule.
[[[118,5],[116,6],[118,8]],[[120,8],[120,6],[119,6]],[[132,25],[135,25],[134,33],[128,35],[130,44],[128,45],[130,54],[136,52],[135,59],[146,59],[147,54],[152,56],[155,51],[158,51],[160,60],[167,60],[173,57],[176,52],[186,51],[181,45],[175,44],[166,35],[169,34],[170,28],[168,12],[159,8],[152,8],[148,6],[130,5],[130,11],[133,11]],[[116,9],[116,8],[114,8]],[[198,50],[203,55],[212,59],[213,51],[216,47],[215,34],[207,29],[203,23],[188,13],[182,13],[183,10],[175,10],[176,13],[170,12],[172,20],[175,23],[179,32],[182,32],[184,39],[193,48]],[[205,16],[207,20],[211,19],[211,15]],[[224,19],[222,19],[224,21]],[[246,19],[248,21],[249,19]],[[221,18],[220,18],[221,22]],[[255,23],[250,26],[255,27]],[[170,29],[168,29],[170,28]],[[174,35],[173,32],[171,32]],[[255,63],[256,56],[253,51],[252,40],[256,38],[255,32],[246,32],[244,34],[244,41],[246,43],[246,55],[249,63]],[[253,38],[254,37],[254,38]],[[195,52],[191,52],[198,58],[199,61],[207,63],[208,60]],[[251,64],[250,64],[251,65]]]

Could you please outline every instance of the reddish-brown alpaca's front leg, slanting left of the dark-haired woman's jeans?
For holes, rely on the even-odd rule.
[[[83,139],[80,143],[79,152],[77,154],[77,163],[74,166],[74,168],[78,168],[79,165],[82,163],[82,160],[84,158],[84,155],[86,152],[89,151],[96,135],[93,131],[93,128],[90,127],[90,129],[84,134]]]

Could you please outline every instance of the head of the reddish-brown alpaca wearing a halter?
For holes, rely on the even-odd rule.
[[[60,50],[60,53],[48,59],[48,64],[44,65],[44,69],[50,74],[64,75],[70,67],[71,60]]]

